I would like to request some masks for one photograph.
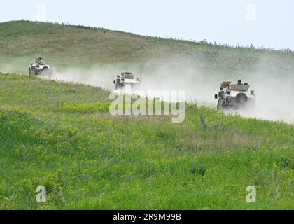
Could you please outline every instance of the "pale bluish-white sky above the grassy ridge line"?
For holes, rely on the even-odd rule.
[[[294,50],[293,0],[1,0],[1,22],[21,19]]]

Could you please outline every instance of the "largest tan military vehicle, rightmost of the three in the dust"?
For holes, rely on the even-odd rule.
[[[214,98],[218,99],[218,110],[221,109],[239,109],[242,106],[255,105],[255,92],[249,91],[250,85],[238,80],[237,84],[225,81],[221,83],[220,91]]]

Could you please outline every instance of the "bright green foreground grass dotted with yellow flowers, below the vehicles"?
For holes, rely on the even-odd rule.
[[[0,209],[293,209],[291,125],[193,104],[179,124],[110,116],[105,90],[13,74],[0,96]]]

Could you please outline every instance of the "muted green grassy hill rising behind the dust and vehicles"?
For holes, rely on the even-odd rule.
[[[235,47],[207,41],[179,41],[74,25],[13,21],[0,23],[0,68],[26,73],[36,55],[58,69],[97,64],[186,61],[202,69],[235,73],[264,69],[291,73],[294,52]],[[148,68],[149,69],[149,68]],[[1,70],[1,69],[0,69]],[[3,71],[3,69],[2,69]]]

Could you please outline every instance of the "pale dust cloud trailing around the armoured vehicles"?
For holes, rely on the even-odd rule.
[[[294,76],[268,73],[258,68],[255,71],[220,72],[200,67],[183,59],[166,59],[165,62],[151,60],[141,65],[95,66],[91,69],[69,69],[56,71],[55,80],[73,81],[113,90],[113,80],[123,71],[130,71],[141,78],[141,90],[185,90],[186,101],[216,108],[214,94],[224,80],[238,79],[251,85],[257,96],[254,109],[231,111],[247,118],[276,120],[294,123],[293,85]],[[46,78],[46,77],[43,77]]]

